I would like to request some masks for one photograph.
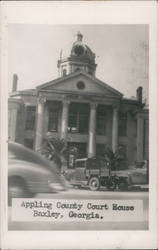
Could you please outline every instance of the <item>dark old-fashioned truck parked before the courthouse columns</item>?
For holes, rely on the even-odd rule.
[[[109,174],[108,165],[103,160],[96,158],[76,159],[74,168],[64,172],[65,178],[76,187],[89,187],[97,191],[101,186],[114,190],[115,174]]]

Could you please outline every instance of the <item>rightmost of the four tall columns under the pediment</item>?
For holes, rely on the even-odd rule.
[[[115,152],[118,147],[118,107],[113,107],[112,120],[112,150]]]

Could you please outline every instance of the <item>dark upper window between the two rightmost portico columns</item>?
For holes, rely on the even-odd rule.
[[[104,106],[101,105],[97,109],[96,132],[98,135],[106,134],[106,112]]]

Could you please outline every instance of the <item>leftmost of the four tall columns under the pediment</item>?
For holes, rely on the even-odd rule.
[[[43,140],[43,123],[44,123],[44,106],[45,98],[39,97],[36,113],[36,137],[35,137],[35,150],[39,151],[42,146]]]

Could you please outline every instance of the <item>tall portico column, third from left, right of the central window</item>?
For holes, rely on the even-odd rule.
[[[88,143],[88,157],[92,158],[96,155],[96,107],[95,103],[90,105],[90,119],[89,119],[89,143]]]

